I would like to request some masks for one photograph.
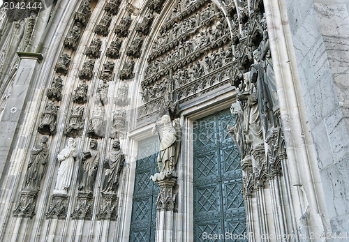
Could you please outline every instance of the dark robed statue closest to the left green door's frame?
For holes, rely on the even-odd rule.
[[[103,193],[117,193],[119,186],[119,174],[125,163],[125,155],[120,150],[119,139],[112,143],[112,150],[104,160],[105,174],[103,181]]]

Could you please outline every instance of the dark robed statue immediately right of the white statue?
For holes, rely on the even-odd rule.
[[[81,167],[79,171],[79,190],[86,193],[94,193],[94,182],[99,163],[98,142],[92,139],[89,143],[89,151],[82,152]]]

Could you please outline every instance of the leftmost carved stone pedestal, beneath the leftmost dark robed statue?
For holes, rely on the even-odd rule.
[[[13,216],[22,218],[33,218],[35,215],[36,197],[38,190],[24,189],[20,192],[20,201],[16,209],[13,211]]]

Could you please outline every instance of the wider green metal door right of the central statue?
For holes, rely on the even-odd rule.
[[[194,123],[194,241],[246,232],[240,158],[227,129],[234,123],[230,110]]]

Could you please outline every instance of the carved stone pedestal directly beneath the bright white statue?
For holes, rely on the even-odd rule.
[[[46,218],[58,218],[66,220],[68,210],[68,196],[64,194],[52,195],[50,208],[46,213]]]

